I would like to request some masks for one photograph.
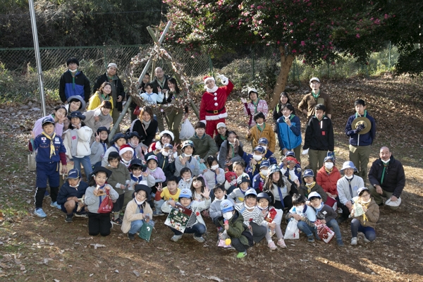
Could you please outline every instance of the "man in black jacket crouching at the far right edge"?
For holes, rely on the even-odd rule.
[[[381,147],[379,159],[373,162],[369,171],[370,193],[376,204],[383,204],[382,197],[387,197],[386,204],[391,209],[398,209],[401,193],[405,186],[403,164],[394,159],[388,147]]]

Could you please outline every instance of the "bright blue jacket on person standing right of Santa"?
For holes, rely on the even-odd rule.
[[[291,125],[288,126],[285,122],[285,117],[278,118],[276,133],[278,133],[279,146],[281,149],[288,149],[293,151],[294,148],[301,145],[301,123],[300,118],[291,114]]]

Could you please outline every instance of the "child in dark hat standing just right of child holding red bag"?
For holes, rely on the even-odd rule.
[[[109,166],[107,168],[110,169],[111,176],[107,180],[107,183],[111,185],[111,187],[115,188],[116,192],[119,195],[118,200],[113,206],[114,212],[114,224],[121,225],[122,219],[119,218],[121,209],[123,208],[123,203],[125,202],[125,190],[129,187],[130,183],[130,173],[128,168],[124,164],[121,163],[121,157],[116,152],[111,152],[108,157]]]

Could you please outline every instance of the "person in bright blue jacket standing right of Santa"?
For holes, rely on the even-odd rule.
[[[284,155],[293,151],[299,157],[301,152],[301,123],[300,118],[293,114],[294,107],[291,104],[283,106],[283,116],[276,121],[276,133],[278,134],[279,146]]]

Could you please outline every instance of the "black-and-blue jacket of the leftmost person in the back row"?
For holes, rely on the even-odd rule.
[[[75,81],[75,83],[74,83]],[[66,71],[61,75],[59,81],[59,96],[63,103],[68,101],[71,96],[80,96],[86,103],[90,101],[90,80],[82,73],[77,71],[73,81],[71,71]],[[81,109],[85,110],[85,109]]]

